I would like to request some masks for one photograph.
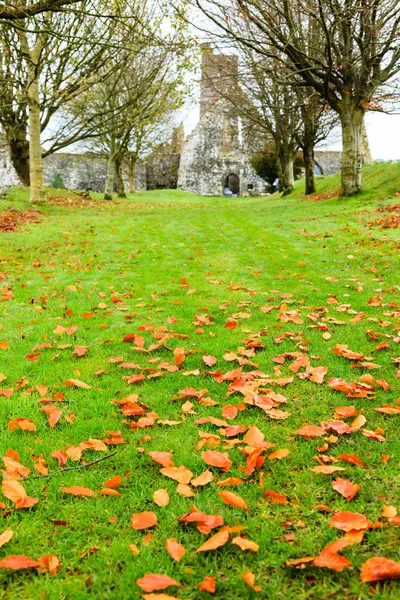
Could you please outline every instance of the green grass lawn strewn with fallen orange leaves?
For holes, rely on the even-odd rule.
[[[0,234],[0,300],[5,297],[0,302],[0,374],[5,376],[0,375],[0,388],[13,389],[10,397],[11,392],[0,391],[0,456],[9,449],[19,454],[20,463],[31,469],[20,483],[28,496],[38,499],[31,508],[16,510],[14,502],[0,494],[5,505],[0,509],[0,534],[14,532],[0,548],[0,560],[54,554],[61,561],[54,577],[35,569],[0,569],[0,598],[136,598],[144,592],[135,581],[148,573],[176,579],[182,588],[169,587],[164,593],[182,600],[211,597],[199,591],[205,576],[215,577],[216,599],[400,597],[396,581],[360,582],[361,566],[371,557],[400,560],[400,527],[381,517],[385,505],[400,513],[400,415],[374,410],[400,399],[400,365],[393,362],[400,356],[400,236],[399,229],[371,225],[385,216],[374,212],[378,207],[399,203],[395,193],[400,191],[400,164],[367,168],[365,192],[357,198],[329,197],[338,186],[337,177],[321,180],[316,199],[305,199],[299,182],[293,196],[285,199],[275,195],[228,200],[166,190],[109,203],[93,201],[87,207],[57,204],[40,208],[40,223]],[[10,197],[0,201],[0,213],[29,208],[26,190],[14,190]],[[62,333],[63,328],[70,331]],[[140,338],[123,342],[128,334],[142,336],[145,351]],[[253,351],[252,336],[259,342]],[[161,339],[163,345],[157,347]],[[387,344],[376,350],[381,342]],[[48,346],[35,349],[43,344]],[[339,356],[332,351],[337,344],[347,344],[367,358]],[[74,353],[77,346],[87,347],[83,356]],[[177,348],[183,350],[174,353]],[[293,372],[290,354],[284,364],[277,358],[293,352],[308,356],[311,367],[328,368],[323,383],[299,377],[304,366],[298,374]],[[227,395],[232,381],[221,376],[240,368],[238,359],[226,360],[234,356],[224,358],[227,353],[254,364],[242,365],[242,376],[258,372],[248,383],[251,377],[266,378],[264,384],[259,381],[259,394],[286,398],[278,408],[289,413],[287,418],[273,418],[280,414],[244,403],[250,397],[240,391]],[[206,366],[204,355],[215,357],[216,363]],[[165,364],[175,361],[176,370]],[[121,368],[121,362],[138,367]],[[365,362],[380,368],[354,366]],[[126,378],[134,374],[144,379],[129,383]],[[368,398],[348,398],[327,385],[331,378],[355,382],[365,375],[386,381],[390,388],[375,385]],[[287,378],[293,380],[280,385]],[[63,383],[70,379],[91,387]],[[217,404],[180,398],[180,391],[188,387],[207,388],[205,396]],[[147,419],[145,414],[125,417],[121,406],[112,403],[130,394],[138,394]],[[54,428],[38,410],[46,406],[42,397],[62,411]],[[226,425],[208,420],[223,420],[227,404],[245,408],[227,421],[244,426],[234,437],[225,437]],[[306,424],[332,421],[335,409],[343,406],[361,411],[366,418],[361,429],[338,435],[328,431],[311,439],[294,435]],[[18,418],[33,421],[36,431],[8,429]],[[351,424],[354,418],[343,420]],[[128,424],[138,421],[153,425]],[[246,475],[243,437],[250,426],[275,446],[265,450],[265,462],[260,460]],[[384,430],[385,441],[362,433],[378,428]],[[90,438],[110,440],[110,431],[120,431],[125,441],[108,446],[108,453],[116,454],[87,468],[59,472],[51,456],[55,450],[65,451]],[[327,450],[319,452],[327,439]],[[202,440],[206,445],[197,447]],[[190,486],[193,497],[178,493],[177,482],[161,474],[162,466],[148,455],[170,452],[175,466],[184,465],[197,477],[208,468],[201,454],[210,449],[227,452],[232,466],[229,472],[209,467],[213,481]],[[278,449],[290,454],[269,460]],[[322,462],[341,454],[357,455],[365,467],[339,461],[327,464],[346,470],[331,475],[312,470],[319,464],[317,456]],[[49,476],[38,476],[34,468],[40,455]],[[105,455],[85,449],[80,462],[68,458],[65,466]],[[100,495],[114,476],[122,476],[121,495]],[[228,477],[243,482],[216,485]],[[360,485],[354,499],[347,501],[332,488],[336,477]],[[61,492],[71,486],[90,488],[94,496]],[[159,489],[168,491],[168,506],[153,501]],[[239,494],[248,511],[224,504],[218,493],[223,489]],[[264,496],[267,490],[286,496],[288,502],[271,502]],[[178,522],[192,505],[223,516],[224,525],[245,529],[232,533],[223,547],[194,554],[207,536],[196,523]],[[132,514],[144,511],[157,515],[157,525],[133,529]],[[372,523],[384,524],[340,552],[351,561],[349,568],[337,572],[312,564],[285,566],[286,561],[315,557],[343,537],[329,526],[340,511],[362,513]],[[208,537],[217,532],[213,529]],[[238,535],[256,542],[259,550],[244,551],[232,544]],[[165,548],[169,538],[185,547],[180,562]],[[129,545],[139,552],[132,553]],[[246,585],[246,571],[255,575],[260,592]]]

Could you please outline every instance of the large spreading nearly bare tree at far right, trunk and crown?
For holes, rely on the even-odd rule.
[[[360,192],[364,115],[400,71],[398,0],[194,3],[230,38],[262,56],[278,51],[288,58],[302,85],[315,90],[339,115],[341,195]],[[318,35],[310,39],[313,27]]]

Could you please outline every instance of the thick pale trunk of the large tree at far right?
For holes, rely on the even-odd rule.
[[[342,125],[342,174],[340,196],[355,196],[362,190],[362,124],[364,111],[344,100]]]

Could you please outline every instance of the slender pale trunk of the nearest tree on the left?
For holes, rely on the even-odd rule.
[[[42,148],[40,145],[40,100],[39,78],[35,66],[28,69],[30,83],[28,87],[28,116],[29,116],[29,173],[30,195],[32,204],[44,204],[47,194],[44,188],[44,168]]]

